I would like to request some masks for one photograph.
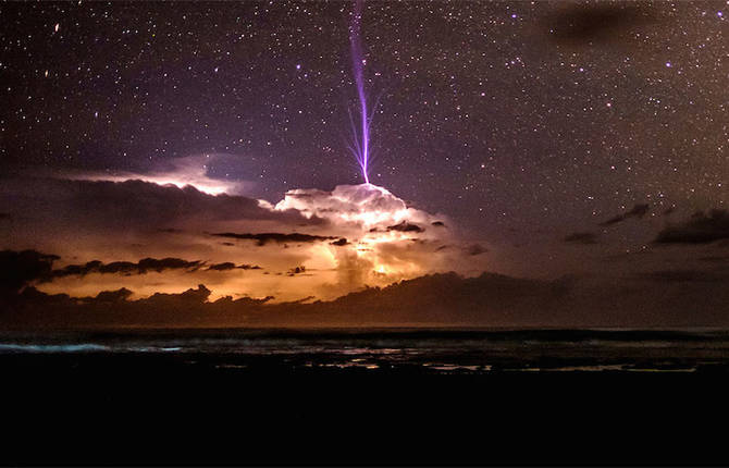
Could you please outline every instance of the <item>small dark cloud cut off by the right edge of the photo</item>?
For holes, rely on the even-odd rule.
[[[708,244],[729,238],[729,211],[724,209],[694,213],[687,221],[665,227],[656,244]]]

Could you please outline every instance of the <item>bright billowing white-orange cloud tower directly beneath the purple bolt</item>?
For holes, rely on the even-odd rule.
[[[443,248],[454,242],[443,215],[410,208],[372,184],[339,185],[332,192],[289,190],[273,209],[329,221],[328,231],[342,239],[325,248],[341,273],[339,281],[349,288],[385,285],[435,271],[468,273],[461,266],[473,267],[472,261],[454,258],[462,256],[462,250]],[[313,250],[323,256],[322,246],[312,246]]]

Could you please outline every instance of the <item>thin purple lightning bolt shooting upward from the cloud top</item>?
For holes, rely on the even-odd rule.
[[[372,121],[372,115],[368,115],[367,112],[367,96],[364,95],[364,81],[362,78],[362,65],[364,64],[364,60],[362,59],[362,44],[359,37],[360,22],[362,20],[362,0],[355,0],[354,13],[349,42],[351,45],[351,64],[355,74],[355,83],[357,84],[357,97],[359,98],[361,136],[358,136],[358,132],[355,127],[355,122],[350,113],[349,123],[353,127],[355,141],[354,148],[350,147],[349,149],[355,155],[355,158],[357,158],[359,168],[362,170],[364,182],[369,184],[370,176],[367,170],[370,160],[370,123]]]

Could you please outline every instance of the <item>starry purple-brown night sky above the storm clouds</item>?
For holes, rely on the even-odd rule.
[[[274,205],[361,184],[347,150],[353,11],[2,4],[0,170],[73,178],[186,161]],[[719,274],[727,15],[727,1],[367,1],[370,180],[428,222],[443,214],[484,270]]]

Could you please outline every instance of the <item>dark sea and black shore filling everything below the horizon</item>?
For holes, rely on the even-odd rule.
[[[729,461],[722,335],[641,336],[642,355],[635,354],[635,336],[617,335],[597,341],[579,333],[552,333],[549,340],[509,335],[493,346],[508,350],[508,343],[520,342],[522,359],[512,349],[477,353],[498,341],[493,334],[441,334],[434,342],[428,338],[432,334],[330,335],[329,348],[321,346],[321,335],[314,345],[309,335],[291,341],[288,334],[270,333],[245,340],[225,334],[220,347],[214,334],[214,352],[210,334],[187,336],[176,346],[165,340],[178,340],[180,332],[145,336],[5,337],[1,461]],[[457,352],[454,342],[467,345]],[[263,343],[275,343],[281,353],[261,352]],[[408,346],[393,347],[396,343]],[[416,343],[430,350],[417,354]],[[393,359],[398,349],[416,357]]]

